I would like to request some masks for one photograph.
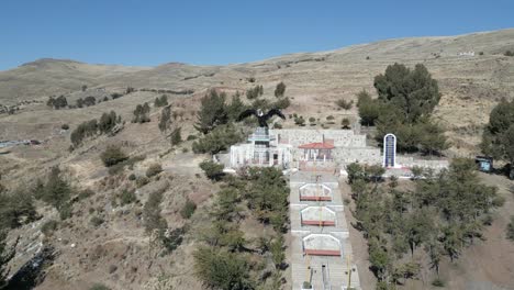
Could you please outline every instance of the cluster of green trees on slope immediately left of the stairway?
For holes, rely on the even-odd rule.
[[[201,167],[223,183],[210,211],[211,226],[201,237],[203,245],[193,254],[197,276],[213,289],[280,289],[289,223],[289,188],[282,172],[252,168],[244,177],[234,177],[223,176],[212,161]],[[250,216],[272,228],[258,238],[245,237],[241,224]]]

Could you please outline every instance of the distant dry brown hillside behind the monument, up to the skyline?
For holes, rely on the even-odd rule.
[[[40,59],[0,71],[0,104],[15,104],[23,100],[44,102],[54,94],[76,94],[83,85],[90,91],[123,91],[133,87],[194,91],[197,94],[213,87],[245,91],[262,85],[265,97],[271,97],[277,82],[283,81],[288,86],[287,96],[292,99],[291,112],[323,118],[337,114],[337,99],[355,99],[355,93],[361,89],[375,92],[373,77],[383,72],[388,65],[403,63],[414,66],[422,63],[439,81],[442,89],[443,98],[435,115],[449,130],[454,148],[467,154],[474,150],[492,105],[501,98],[514,97],[514,57],[503,55],[509,49],[514,51],[514,30],[390,40],[227,66],[170,63],[154,68],[136,68]],[[463,52],[474,52],[474,56],[458,56]],[[137,98],[135,102],[145,101],[142,96]],[[123,110],[124,105],[115,107]],[[34,110],[32,108],[27,109],[31,116],[37,114],[40,124],[58,119],[45,116],[47,112],[44,110]],[[2,121],[23,126],[29,118],[23,113],[21,110],[19,115],[2,118]],[[66,111],[66,114],[75,113]],[[82,115],[80,113],[74,120],[80,121]]]

